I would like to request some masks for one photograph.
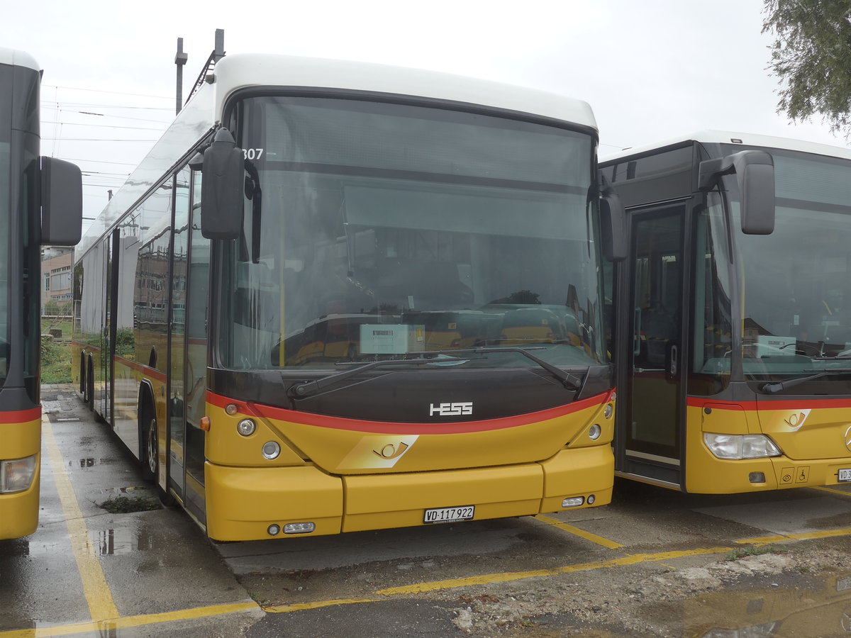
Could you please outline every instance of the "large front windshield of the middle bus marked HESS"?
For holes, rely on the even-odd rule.
[[[224,260],[225,367],[480,347],[605,362],[589,132],[363,100],[258,97],[236,113],[246,199]]]

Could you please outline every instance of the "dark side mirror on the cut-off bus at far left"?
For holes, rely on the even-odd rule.
[[[40,157],[44,246],[75,246],[83,233],[83,176],[71,162]]]

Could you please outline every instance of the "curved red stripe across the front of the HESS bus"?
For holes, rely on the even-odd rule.
[[[248,404],[246,402],[234,401],[226,396],[216,395],[213,392],[207,393],[207,402],[216,407],[222,408],[232,403],[236,405],[237,410],[242,413],[254,414],[268,419],[313,425],[320,428],[329,428],[332,430],[380,432],[382,434],[462,434],[465,432],[505,430],[507,428],[516,428],[521,425],[557,419],[559,417],[567,416],[568,414],[580,412],[590,407],[601,406],[603,403],[610,400],[611,394],[611,392],[606,392],[597,396],[591,396],[590,398],[583,399],[582,401],[577,401],[564,406],[551,407],[546,410],[541,410],[540,412],[517,414],[515,416],[503,417],[500,419],[455,421],[449,423],[391,423],[383,421],[362,421],[358,419],[346,419],[343,417],[330,417],[323,414],[295,412],[294,410],[287,410],[283,407],[271,407],[261,405],[259,403]]]

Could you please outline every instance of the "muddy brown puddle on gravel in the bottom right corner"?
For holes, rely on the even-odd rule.
[[[851,633],[851,572],[814,589],[774,586],[717,591],[683,604],[683,635],[696,638],[781,638]]]

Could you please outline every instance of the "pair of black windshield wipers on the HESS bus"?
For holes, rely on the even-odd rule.
[[[294,399],[303,399],[306,396],[317,394],[322,390],[326,390],[331,385],[336,385],[340,381],[349,379],[356,374],[370,370],[374,367],[392,366],[402,363],[424,365],[428,363],[445,363],[449,361],[448,359],[437,359],[437,356],[453,357],[454,360],[458,362],[471,361],[472,359],[486,359],[487,355],[493,352],[517,352],[518,354],[525,356],[527,359],[534,361],[540,367],[543,367],[548,373],[551,373],[552,376],[561,381],[562,385],[568,390],[580,390],[582,387],[582,379],[580,379],[580,377],[577,377],[575,374],[569,373],[560,367],[554,366],[549,362],[545,362],[540,357],[534,356],[528,350],[545,350],[545,348],[543,346],[535,348],[469,348],[465,350],[429,350],[427,353],[408,352],[405,356],[412,354],[419,356],[410,359],[383,359],[381,361],[371,361],[360,365],[356,364],[355,367],[351,367],[343,372],[331,374],[328,377],[323,377],[322,379],[317,379],[315,381],[305,381],[303,383],[293,385],[289,389],[288,394]],[[458,356],[468,353],[479,356]],[[423,356],[426,354],[428,356]]]

